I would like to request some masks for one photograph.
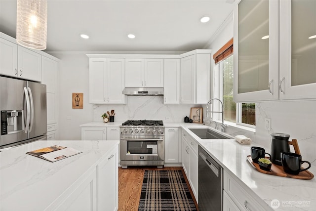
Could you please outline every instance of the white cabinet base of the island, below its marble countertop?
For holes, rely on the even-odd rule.
[[[105,154],[46,210],[117,211],[118,147]]]

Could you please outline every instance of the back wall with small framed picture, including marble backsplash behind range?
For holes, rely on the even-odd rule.
[[[198,105],[164,105],[162,96],[128,96],[126,105],[89,103],[89,62],[85,52],[50,53],[59,64],[59,139],[80,140],[79,125],[102,122],[104,112],[115,110],[115,122],[126,120],[163,120],[183,122],[191,107]],[[101,87],[100,87],[101,88]],[[83,109],[72,109],[72,93],[83,93]]]

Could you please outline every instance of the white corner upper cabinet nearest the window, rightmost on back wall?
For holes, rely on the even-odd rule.
[[[210,100],[211,54],[207,51],[180,59],[181,104],[206,104]]]

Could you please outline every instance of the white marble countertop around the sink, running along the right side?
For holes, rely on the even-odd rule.
[[[239,184],[263,207],[269,209],[267,205],[270,206],[272,200],[278,200],[280,206],[275,209],[276,211],[316,211],[315,177],[311,180],[302,180],[261,173],[246,160],[250,155],[250,147],[260,146],[257,143],[242,145],[234,139],[200,139],[189,128],[207,126],[189,123],[180,123],[178,127],[179,125],[230,175],[239,180]],[[165,127],[176,127],[176,124],[166,123]],[[312,166],[309,171],[315,175],[316,167]]]

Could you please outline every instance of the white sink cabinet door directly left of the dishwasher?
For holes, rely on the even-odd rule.
[[[198,157],[197,154],[190,148],[189,153],[189,182],[193,191],[193,194],[198,201]]]

